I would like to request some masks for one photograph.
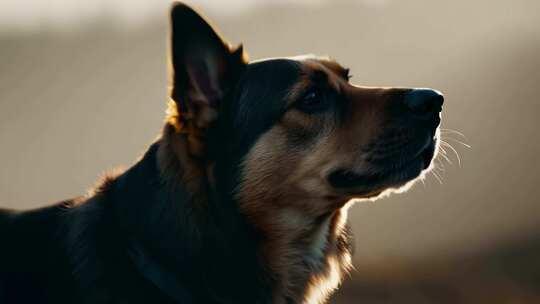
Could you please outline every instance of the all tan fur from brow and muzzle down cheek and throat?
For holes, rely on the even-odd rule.
[[[353,196],[336,193],[325,180],[339,165],[366,169],[367,146],[385,122],[386,89],[358,88],[347,83],[348,71],[329,59],[307,57],[303,77],[291,89],[290,101],[322,71],[336,91],[354,90],[352,117],[335,126],[330,117],[290,110],[256,142],[243,163],[237,195],[240,208],[266,237],[261,259],[275,276],[275,303],[323,303],[350,268],[349,251],[340,247],[346,204]],[[352,89],[351,89],[352,87]],[[377,101],[377,102],[374,102]],[[312,132],[305,147],[291,149],[287,137]],[[367,193],[373,197],[380,190]],[[329,224],[331,223],[331,224]]]

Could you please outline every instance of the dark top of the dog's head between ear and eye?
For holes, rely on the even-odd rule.
[[[317,72],[328,80],[345,72],[336,62],[322,57],[296,56],[267,58],[250,62],[236,86],[225,119],[235,137],[249,145],[270,129],[313,82]]]

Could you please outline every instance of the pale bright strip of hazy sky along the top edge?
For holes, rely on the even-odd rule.
[[[191,0],[187,3],[213,14],[231,15],[255,6],[293,3],[319,5],[330,0]],[[347,1],[347,0],[337,0]],[[390,0],[351,0],[365,5],[384,5]],[[137,26],[146,20],[167,14],[170,0],[2,0],[0,31],[52,28],[69,30],[81,27],[98,16],[110,16],[120,26]],[[334,0],[336,2],[336,0]]]

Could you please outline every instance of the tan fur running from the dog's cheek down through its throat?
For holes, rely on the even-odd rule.
[[[265,236],[260,260],[277,282],[274,303],[307,298],[319,303],[349,267],[348,249],[338,246],[344,202],[325,197],[316,153],[331,154],[323,149],[324,141],[317,138],[311,148],[291,150],[287,129],[275,126],[248,153],[237,198],[241,211]]]

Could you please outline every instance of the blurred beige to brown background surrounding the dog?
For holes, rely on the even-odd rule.
[[[446,95],[460,159],[351,209],[356,270],[331,303],[540,303],[540,1],[188,3],[251,59],[330,55],[354,83]],[[81,194],[156,137],[169,4],[0,2],[0,206]]]

